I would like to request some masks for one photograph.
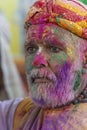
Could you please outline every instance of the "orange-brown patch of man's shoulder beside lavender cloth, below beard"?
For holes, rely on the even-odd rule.
[[[32,102],[32,100],[29,99],[29,97],[25,98],[19,103],[14,115],[14,123],[13,123],[14,130],[17,129],[19,125],[22,125],[21,123],[24,124],[26,122],[29,113],[31,113],[31,111],[34,108],[35,105]]]

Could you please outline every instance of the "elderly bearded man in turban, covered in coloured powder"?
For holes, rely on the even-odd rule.
[[[37,1],[25,28],[31,99],[0,103],[0,129],[87,130],[87,7]]]

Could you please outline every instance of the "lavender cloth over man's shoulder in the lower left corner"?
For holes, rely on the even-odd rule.
[[[14,112],[22,100],[23,99],[0,101],[0,130],[12,130]]]

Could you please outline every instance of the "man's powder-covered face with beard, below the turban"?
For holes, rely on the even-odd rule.
[[[79,48],[78,39],[56,25],[28,29],[26,70],[34,102],[42,107],[60,107],[78,96],[82,82]]]

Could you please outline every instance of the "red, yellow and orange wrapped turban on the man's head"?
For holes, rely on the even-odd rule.
[[[87,39],[87,6],[78,0],[38,0],[30,8],[25,28],[54,23]]]

